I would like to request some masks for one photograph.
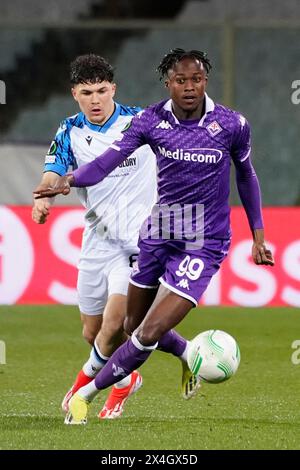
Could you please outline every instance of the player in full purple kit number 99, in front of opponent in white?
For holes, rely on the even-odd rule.
[[[198,304],[230,245],[231,161],[253,236],[253,261],[274,264],[264,242],[260,188],[250,159],[249,125],[241,114],[208,97],[205,90],[210,69],[210,61],[201,51],[171,50],[158,67],[170,99],[134,117],[123,137],[93,162],[61,177],[55,187],[39,192],[41,197],[66,195],[71,186],[94,185],[136,148],[149,144],[157,158],[158,208],[204,208],[201,243],[197,233],[195,240],[186,240],[172,229],[169,237],[160,231],[161,236],[154,238],[151,230],[150,235],[149,230],[142,230],[124,324],[131,337],[113,353],[95,380],[72,397],[67,424],[85,424],[88,405],[98,392],[140,367],[156,348],[176,350],[177,355],[185,350],[185,340],[172,328]]]

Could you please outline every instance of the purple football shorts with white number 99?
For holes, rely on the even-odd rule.
[[[195,305],[227,256],[230,240],[206,239],[202,248],[189,250],[178,240],[139,241],[140,254],[130,283],[145,289],[159,282]]]

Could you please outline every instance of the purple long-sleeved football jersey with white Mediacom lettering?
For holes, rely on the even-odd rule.
[[[151,221],[141,229],[141,238],[200,241],[197,248],[208,238],[230,238],[231,161],[250,227],[263,228],[249,125],[241,114],[215,104],[207,95],[200,120],[179,121],[172,100],[138,113],[104,154],[73,172],[74,186],[96,184],[144,144],[157,158],[158,203]]]

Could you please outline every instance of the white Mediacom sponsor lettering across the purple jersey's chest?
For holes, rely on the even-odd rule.
[[[173,160],[183,160],[185,162],[195,163],[218,163],[223,157],[223,152],[218,149],[195,148],[195,149],[176,149],[167,150],[165,147],[158,146],[159,153],[166,158]]]

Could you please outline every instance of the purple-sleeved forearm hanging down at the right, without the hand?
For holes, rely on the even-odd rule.
[[[250,161],[236,168],[236,182],[254,237],[255,231],[263,230],[263,218],[259,182]]]

